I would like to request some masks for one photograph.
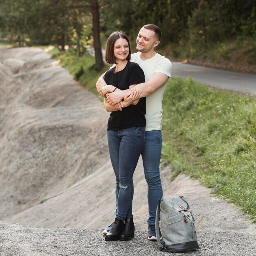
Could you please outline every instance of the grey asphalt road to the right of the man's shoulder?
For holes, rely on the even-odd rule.
[[[195,81],[216,88],[256,95],[256,75],[211,67],[172,62],[172,77],[192,76]]]

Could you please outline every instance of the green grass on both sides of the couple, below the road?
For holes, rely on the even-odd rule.
[[[52,50],[55,58],[98,95],[94,58]],[[102,99],[99,97],[99,99]],[[211,90],[189,78],[170,79],[163,99],[162,164],[196,177],[236,203],[256,222],[256,99]]]

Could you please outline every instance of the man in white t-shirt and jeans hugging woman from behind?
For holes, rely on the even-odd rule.
[[[171,62],[155,52],[159,45],[161,30],[156,25],[145,25],[139,31],[136,42],[138,52],[132,54],[131,61],[138,63],[145,74],[145,83],[135,85],[132,90],[138,92],[139,97],[146,97],[146,133],[144,149],[141,153],[144,174],[148,184],[148,239],[156,240],[155,215],[159,200],[163,196],[160,179],[159,164],[162,150],[162,99],[166,83],[171,77]],[[106,83],[104,74],[97,81],[96,87],[101,96]],[[107,94],[107,101],[115,105],[118,110],[124,108],[122,100],[128,97],[131,90],[115,90]],[[134,100],[134,98],[132,98]],[[111,226],[111,225],[110,225]],[[106,232],[108,227],[103,232]],[[103,234],[104,234],[103,233]]]

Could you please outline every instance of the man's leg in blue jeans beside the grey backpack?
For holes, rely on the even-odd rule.
[[[159,200],[163,197],[162,182],[160,179],[159,171],[161,151],[161,130],[146,131],[145,143],[141,156],[143,160],[145,179],[148,184],[149,227],[151,227],[151,225],[155,226],[157,205],[159,203]]]

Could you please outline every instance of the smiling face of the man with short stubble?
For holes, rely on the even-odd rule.
[[[150,52],[150,50],[154,47],[156,41],[157,40],[155,38],[155,32],[142,27],[136,39],[136,49],[139,52]]]

